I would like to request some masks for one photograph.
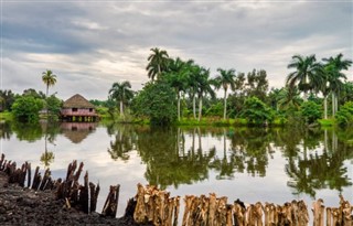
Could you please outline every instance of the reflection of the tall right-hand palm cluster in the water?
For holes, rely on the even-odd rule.
[[[333,137],[332,140],[335,138]],[[286,172],[291,181],[288,182],[288,186],[295,189],[296,194],[307,193],[314,197],[317,190],[329,187],[342,191],[343,187],[352,185],[346,176],[347,169],[343,165],[343,161],[351,158],[351,151],[339,149],[338,141],[334,141],[331,148],[328,147],[327,136],[324,136],[324,143],[321,155],[317,152],[307,154],[308,149],[317,150],[319,143],[304,139],[303,158],[299,155],[289,158]]]

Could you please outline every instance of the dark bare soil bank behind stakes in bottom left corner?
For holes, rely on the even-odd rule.
[[[132,217],[109,218],[98,213],[85,214],[65,207],[64,201],[54,198],[54,191],[33,191],[9,184],[8,176],[0,171],[0,225],[138,225]]]

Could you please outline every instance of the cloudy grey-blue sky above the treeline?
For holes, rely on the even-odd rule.
[[[295,54],[353,58],[352,0],[1,1],[1,89],[106,99],[115,82],[139,90],[151,47],[211,68],[266,69],[281,87]],[[346,72],[353,79],[352,68]]]

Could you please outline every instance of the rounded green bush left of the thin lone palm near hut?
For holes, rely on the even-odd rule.
[[[39,119],[39,111],[43,108],[43,101],[32,96],[22,96],[12,105],[12,112],[19,121],[34,122]]]

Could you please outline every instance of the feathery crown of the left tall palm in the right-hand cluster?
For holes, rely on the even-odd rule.
[[[296,71],[287,76],[286,84],[290,87],[298,85],[299,90],[304,93],[303,99],[307,101],[308,92],[317,88],[322,83],[320,76],[322,66],[317,63],[315,55],[306,57],[293,55],[291,58],[292,61],[287,67]]]

